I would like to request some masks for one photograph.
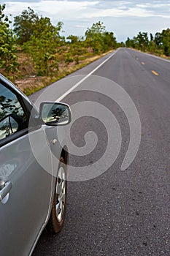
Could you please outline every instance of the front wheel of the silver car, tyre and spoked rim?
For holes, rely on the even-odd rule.
[[[53,206],[50,214],[50,230],[58,233],[63,227],[64,217],[66,214],[66,165],[63,157],[60,158],[58,173],[55,181],[55,192],[53,197]]]

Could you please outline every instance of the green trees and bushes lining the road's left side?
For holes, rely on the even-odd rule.
[[[90,55],[98,55],[117,48],[113,32],[98,21],[85,31],[84,37],[61,36],[63,23],[55,26],[50,18],[38,15],[28,7],[14,17],[12,29],[4,15],[5,4],[0,5],[0,69],[12,75],[18,69],[18,50],[22,50],[34,64],[36,75],[50,76],[58,72],[59,64],[74,62]]]

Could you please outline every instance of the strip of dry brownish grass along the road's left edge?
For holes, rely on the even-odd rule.
[[[106,56],[108,53],[111,53],[112,50],[109,50],[107,53],[103,53],[98,56],[92,56],[90,58],[84,59],[80,62],[80,64],[69,64],[67,67],[61,67],[58,72],[54,72],[54,75],[52,77],[36,77],[36,76],[29,76],[22,80],[16,80],[15,84],[18,86],[18,88],[23,91],[27,96],[33,94],[36,91],[39,91],[40,89],[45,88],[46,86],[49,86],[51,83],[54,83],[57,80],[60,80],[61,78],[66,77],[66,75],[71,74],[72,72],[77,71],[78,69],[81,69],[82,67],[87,66],[93,61],[96,61],[97,59],[101,59],[103,56]]]

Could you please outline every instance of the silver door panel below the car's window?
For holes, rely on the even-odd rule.
[[[34,135],[37,132],[41,133],[37,130]],[[28,135],[2,147],[0,162],[3,162],[0,178],[12,183],[9,200],[0,203],[1,252],[3,255],[28,255],[47,218],[53,176],[36,162]]]

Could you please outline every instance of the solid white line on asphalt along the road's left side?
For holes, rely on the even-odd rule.
[[[88,75],[85,76],[85,78],[82,78],[82,80],[80,80],[78,83],[76,83],[74,86],[72,86],[72,88],[70,88],[68,91],[65,92],[65,94],[61,95],[61,97],[59,97],[58,99],[55,100],[55,102],[61,102],[61,99],[63,99],[64,97],[66,97],[70,92],[72,92],[74,89],[77,88],[77,86],[80,86],[80,84],[82,82],[84,82],[87,78],[90,77],[90,75],[93,75],[94,72],[96,72],[97,69],[99,69],[99,67],[101,67],[104,63],[106,63],[107,61],[109,61],[109,59],[112,58],[112,56],[115,55],[115,53],[117,53],[117,51],[119,50],[119,48],[117,50],[115,50],[114,53],[112,53],[111,56],[109,56],[109,58],[105,59],[105,61],[103,61],[100,65],[98,65],[98,67],[96,67],[95,69],[93,69]]]

